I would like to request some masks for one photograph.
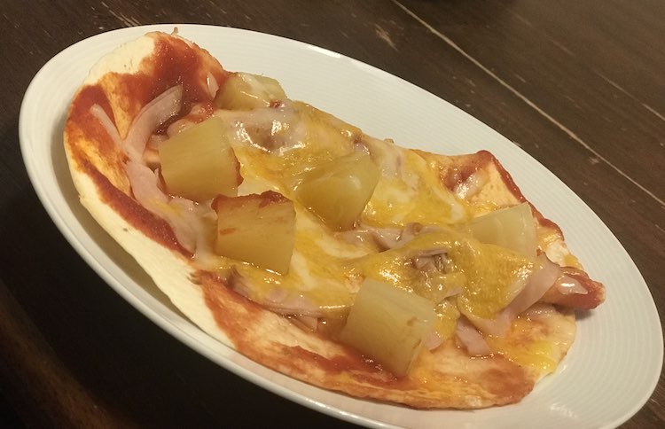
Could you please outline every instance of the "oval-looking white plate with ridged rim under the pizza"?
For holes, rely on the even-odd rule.
[[[82,258],[131,305],[224,368],[295,402],[361,425],[515,427],[537,422],[612,427],[644,405],[661,373],[658,313],[629,255],[573,191],[505,137],[425,90],[334,52],[272,35],[177,26],[181,35],[207,48],[227,69],[275,77],[291,98],[317,105],[373,136],[389,136],[397,144],[432,152],[494,152],[527,198],[566,232],[591,277],[605,283],[607,300],[580,318],[575,344],[556,374],[519,404],[475,411],[421,411],[309,386],[253,363],[176,313],[80,207],[62,148],[67,105],[90,66],[120,43],[173,27],[124,28],[74,44],[35,75],[20,112],[21,150],[43,206]]]

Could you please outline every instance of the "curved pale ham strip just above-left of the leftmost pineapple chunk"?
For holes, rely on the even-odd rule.
[[[129,160],[137,162],[142,160],[148,138],[155,129],[180,112],[182,100],[183,86],[176,85],[165,90],[138,112],[122,146]]]

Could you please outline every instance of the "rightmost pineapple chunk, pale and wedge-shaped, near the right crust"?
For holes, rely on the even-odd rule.
[[[477,217],[469,227],[473,237],[483,243],[536,257],[536,222],[526,202]]]

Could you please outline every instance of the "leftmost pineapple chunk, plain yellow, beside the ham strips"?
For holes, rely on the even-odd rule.
[[[219,118],[184,129],[161,143],[159,151],[169,193],[194,201],[237,195],[240,164]]]

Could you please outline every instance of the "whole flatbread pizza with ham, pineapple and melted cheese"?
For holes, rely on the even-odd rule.
[[[82,205],[176,308],[314,386],[519,402],[605,299],[490,152],[368,136],[176,32],[100,58],[64,146]]]

